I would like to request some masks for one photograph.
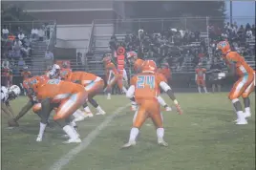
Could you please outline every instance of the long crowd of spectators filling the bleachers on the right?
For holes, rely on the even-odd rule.
[[[169,29],[166,32],[146,32],[140,30],[136,33],[127,33],[121,40],[121,44],[126,47],[127,51],[136,51],[140,57],[154,58],[158,63],[163,59],[168,60],[170,66],[181,71],[184,61],[189,58],[194,67],[199,62],[210,63],[213,61],[212,56],[216,55],[216,44],[220,40],[227,39],[232,48],[243,55],[255,55],[255,26],[241,26],[237,24],[226,23],[224,28],[208,27],[209,47],[207,41],[201,36],[201,32],[182,31]],[[110,40],[110,49],[114,52],[117,49],[117,37],[113,35]],[[254,43],[249,43],[253,41]],[[221,62],[221,61],[220,61]]]

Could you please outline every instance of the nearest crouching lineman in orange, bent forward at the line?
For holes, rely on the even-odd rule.
[[[41,116],[40,130],[36,141],[42,140],[48,117],[53,108],[56,108],[53,120],[69,136],[69,140],[65,143],[81,142],[74,126],[69,124],[70,121],[67,121],[86,102],[87,92],[84,87],[59,79],[45,81],[39,76],[32,77],[30,82],[32,91],[37,99],[41,101],[41,108],[38,109]]]

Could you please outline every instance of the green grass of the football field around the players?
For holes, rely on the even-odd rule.
[[[255,96],[251,96],[252,117],[247,125],[235,125],[227,94],[177,94],[184,114],[163,112],[168,147],[157,145],[156,131],[150,120],[141,128],[138,144],[120,150],[129,137],[133,113],[127,107],[96,136],[92,143],[75,154],[64,170],[254,170],[255,169]],[[170,105],[172,101],[164,96]],[[106,100],[96,97],[107,111],[78,122],[81,138],[86,138],[117,108],[129,103],[124,96]],[[11,102],[17,113],[27,98]],[[42,142],[35,138],[39,118],[32,111],[20,119],[20,127],[7,129],[2,119],[2,169],[49,170],[55,161],[79,144],[62,144],[62,130],[47,127]],[[83,145],[84,143],[81,143]]]

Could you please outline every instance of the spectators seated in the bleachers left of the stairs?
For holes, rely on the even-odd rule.
[[[4,80],[19,75],[24,67],[32,66],[32,42],[49,39],[47,27],[21,28],[3,26],[1,34],[1,72]]]

